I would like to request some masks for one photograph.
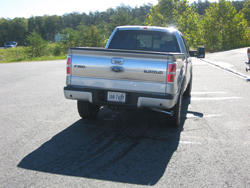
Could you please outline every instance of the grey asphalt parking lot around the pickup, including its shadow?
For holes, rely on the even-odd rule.
[[[0,187],[250,187],[250,83],[221,68],[245,73],[234,52],[193,59],[178,129],[150,110],[82,120],[66,60],[0,64]]]

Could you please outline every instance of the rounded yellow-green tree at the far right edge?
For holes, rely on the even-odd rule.
[[[204,20],[205,45],[209,50],[226,50],[247,44],[247,22],[232,3],[220,0],[206,10]]]

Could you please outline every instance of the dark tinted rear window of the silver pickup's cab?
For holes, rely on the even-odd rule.
[[[174,33],[118,30],[109,49],[180,52]]]

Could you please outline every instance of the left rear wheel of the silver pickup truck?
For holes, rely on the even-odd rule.
[[[95,119],[99,113],[100,106],[86,101],[77,101],[77,109],[82,118]]]

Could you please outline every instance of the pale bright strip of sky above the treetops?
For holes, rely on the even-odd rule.
[[[89,14],[90,11],[102,12],[108,8],[116,8],[121,3],[134,8],[148,3],[156,5],[158,0],[0,0],[0,18],[62,16],[72,12]]]

